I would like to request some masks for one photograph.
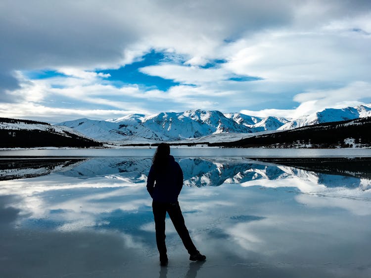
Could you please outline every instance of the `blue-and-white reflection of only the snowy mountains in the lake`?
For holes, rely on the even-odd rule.
[[[357,188],[364,186],[365,181],[367,187],[370,185],[370,182],[367,182],[370,181],[368,167],[361,167],[357,171],[336,171],[336,165],[339,169],[346,166],[351,167],[352,163],[359,162],[357,159],[347,160],[343,163],[338,162],[335,166],[328,164],[327,168],[326,165],[319,166],[315,163],[309,163],[306,165],[306,169],[297,168],[293,163],[285,166],[251,159],[185,158],[177,160],[183,169],[185,186],[244,184],[256,180],[282,180],[290,177],[308,180],[326,187]],[[283,164],[282,161],[280,162]],[[106,176],[107,178],[140,183],[146,180],[151,164],[152,159],[150,158],[90,159],[59,173],[84,179]],[[318,172],[319,167],[322,167],[322,172]]]

